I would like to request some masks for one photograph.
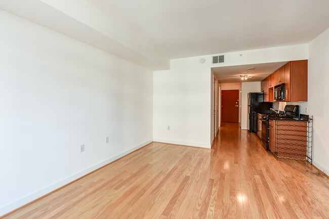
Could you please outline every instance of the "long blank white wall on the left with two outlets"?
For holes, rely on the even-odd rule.
[[[0,30],[0,215],[152,141],[153,72],[3,11]]]

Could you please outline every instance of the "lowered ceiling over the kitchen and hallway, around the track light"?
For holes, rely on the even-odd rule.
[[[236,65],[225,67],[213,67],[212,72],[217,77],[220,83],[236,83],[236,82],[252,82],[261,81],[268,75],[279,69],[287,62],[273,62],[262,64],[250,64],[250,65]],[[248,70],[248,68],[254,67],[254,70]],[[247,73],[244,73],[244,72]],[[248,74],[253,78],[247,80],[241,80],[240,75]]]

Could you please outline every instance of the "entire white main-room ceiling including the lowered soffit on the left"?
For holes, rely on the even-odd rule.
[[[329,27],[329,0],[0,0],[0,9],[151,70],[308,43]]]

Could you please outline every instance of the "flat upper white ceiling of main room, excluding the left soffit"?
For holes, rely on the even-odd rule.
[[[90,0],[170,59],[308,43],[328,0]]]

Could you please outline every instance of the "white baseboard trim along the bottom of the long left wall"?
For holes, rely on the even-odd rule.
[[[121,158],[124,158],[125,156],[127,156],[127,155],[129,155],[129,154],[131,154],[135,151],[138,151],[141,148],[151,144],[152,142],[153,142],[153,139],[148,140],[146,142],[143,142],[143,143],[127,150],[127,151],[121,152],[121,153],[119,153],[119,154],[117,154],[117,155],[115,155],[115,156],[113,156],[109,159],[106,159],[104,161],[101,161],[101,162],[95,164],[94,166],[91,166],[91,167],[89,167],[89,168],[87,168],[83,171],[80,171],[76,174],[73,174],[71,177],[68,177],[68,178],[66,178],[62,181],[54,183],[54,184],[52,184],[52,185],[50,185],[50,186],[48,186],[44,189],[41,189],[41,190],[39,190],[35,193],[27,195],[27,196],[25,196],[25,197],[23,197],[23,198],[21,198],[17,201],[14,201],[14,202],[12,202],[8,205],[2,206],[0,208],[0,218],[3,218],[3,217],[13,213],[14,211],[16,211],[18,209],[21,209],[21,208],[23,208],[23,207],[39,200],[39,199],[42,199],[42,198],[44,198],[44,197],[60,190],[60,189],[62,189],[63,187],[68,186],[68,185],[70,185],[70,184],[72,184],[72,183],[88,176],[89,174],[91,174],[91,173],[93,173],[93,172],[95,172],[95,171],[97,171],[97,170],[113,163],[114,161],[117,161],[117,160],[119,160]]]

